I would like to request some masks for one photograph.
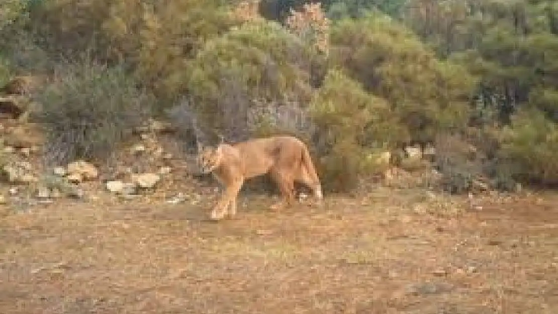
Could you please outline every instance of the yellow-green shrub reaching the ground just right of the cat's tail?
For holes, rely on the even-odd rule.
[[[310,104],[314,149],[324,189],[352,190],[359,178],[379,171],[369,156],[406,137],[387,102],[366,93],[339,70],[330,70]]]

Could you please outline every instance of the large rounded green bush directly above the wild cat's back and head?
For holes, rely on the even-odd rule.
[[[176,81],[185,82],[200,124],[241,140],[304,124],[311,62],[296,35],[276,22],[251,21],[207,41]]]

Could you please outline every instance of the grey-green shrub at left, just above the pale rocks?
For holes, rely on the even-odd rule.
[[[80,64],[38,95],[35,114],[47,129],[47,156],[55,163],[103,160],[150,113],[153,99],[121,67]]]

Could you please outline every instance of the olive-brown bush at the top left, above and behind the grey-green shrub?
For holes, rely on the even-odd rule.
[[[49,0],[30,9],[26,28],[57,57],[126,62],[168,103],[180,96],[184,61],[235,24],[229,11],[221,0]]]

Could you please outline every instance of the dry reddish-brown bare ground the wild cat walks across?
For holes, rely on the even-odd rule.
[[[219,223],[162,201],[4,214],[0,313],[558,313],[557,195],[239,200]]]

